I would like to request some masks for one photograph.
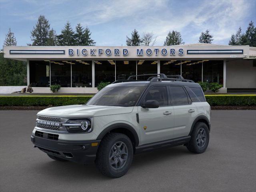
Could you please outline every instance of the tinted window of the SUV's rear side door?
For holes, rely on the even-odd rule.
[[[172,105],[188,105],[188,96],[183,87],[169,86],[172,94]]]

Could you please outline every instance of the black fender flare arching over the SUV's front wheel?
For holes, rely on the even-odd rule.
[[[112,124],[112,125],[108,126],[98,135],[97,140],[98,139],[101,140],[108,132],[110,132],[111,130],[117,129],[117,128],[123,128],[123,129],[130,131],[134,137],[135,146],[139,145],[139,137],[138,137],[137,132],[134,130],[134,128],[132,126],[125,124],[125,123],[116,123],[116,124]]]

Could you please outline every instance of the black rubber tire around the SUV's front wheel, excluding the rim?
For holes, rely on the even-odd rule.
[[[112,147],[117,142],[124,143],[128,151],[126,163],[122,168],[120,168],[120,170],[115,170],[110,164],[110,150],[112,150]],[[122,133],[109,133],[100,142],[95,162],[98,170],[103,175],[111,178],[118,178],[126,174],[126,172],[129,170],[132,164],[132,159],[133,146],[130,138]]]

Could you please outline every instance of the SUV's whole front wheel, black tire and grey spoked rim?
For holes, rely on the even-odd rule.
[[[133,146],[130,138],[121,133],[105,136],[98,148],[96,166],[108,177],[118,178],[126,174],[133,159]]]

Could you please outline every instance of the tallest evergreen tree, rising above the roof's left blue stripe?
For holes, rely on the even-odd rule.
[[[46,46],[50,31],[49,21],[45,16],[40,15],[36,23],[36,27],[33,27],[31,32],[32,45],[34,46]]]

